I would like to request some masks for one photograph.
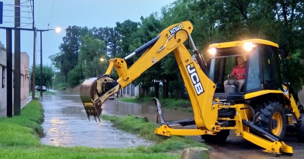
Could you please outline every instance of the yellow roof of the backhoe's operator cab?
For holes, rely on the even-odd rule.
[[[253,43],[259,43],[259,44],[265,44],[265,45],[270,45],[270,46],[275,46],[279,47],[278,44],[268,41],[268,40],[263,40],[263,39],[248,39],[248,40],[243,40],[243,41],[233,41],[233,42],[222,42],[222,43],[217,43],[217,44],[211,44],[209,45],[209,48],[227,48],[227,47],[234,47],[234,46],[243,46],[244,43],[246,42],[253,42]]]

